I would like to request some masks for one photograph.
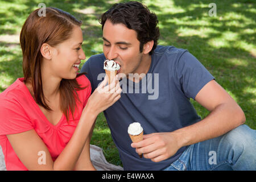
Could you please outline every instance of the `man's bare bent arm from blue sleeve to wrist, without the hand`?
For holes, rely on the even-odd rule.
[[[210,114],[194,125],[176,130],[183,137],[181,146],[216,138],[245,123],[245,114],[233,98],[214,80],[208,82],[195,100]]]

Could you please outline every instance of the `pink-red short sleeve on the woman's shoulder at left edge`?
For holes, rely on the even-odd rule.
[[[0,135],[22,133],[34,129],[19,102],[3,100],[0,104]]]

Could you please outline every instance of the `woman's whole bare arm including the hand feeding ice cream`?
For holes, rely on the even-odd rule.
[[[86,140],[88,140],[89,144],[88,136],[92,132],[92,126],[97,115],[113,105],[121,97],[122,90],[119,84],[115,86],[113,81],[112,84],[105,86],[106,82],[105,78],[90,96],[82,111],[75,132],[55,162],[53,162],[46,144],[44,144],[35,130],[7,135],[16,155],[28,170],[72,170],[75,168]],[[88,151],[88,144],[85,152]]]

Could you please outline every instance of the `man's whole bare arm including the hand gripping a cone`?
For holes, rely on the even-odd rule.
[[[206,118],[170,133],[144,135],[144,140],[131,146],[143,153],[144,158],[160,162],[170,158],[183,146],[218,137],[245,122],[241,107],[214,80],[197,93],[195,100],[210,111]]]

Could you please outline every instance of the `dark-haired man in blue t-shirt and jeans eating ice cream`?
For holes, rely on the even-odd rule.
[[[256,169],[256,134],[242,125],[242,109],[187,50],[157,46],[154,13],[139,2],[118,3],[100,23],[104,54],[90,57],[81,71],[92,90],[104,77],[105,59],[127,77],[120,80],[121,98],[104,111],[125,170]],[[189,98],[210,114],[201,119]],[[145,135],[131,144],[133,122]]]

